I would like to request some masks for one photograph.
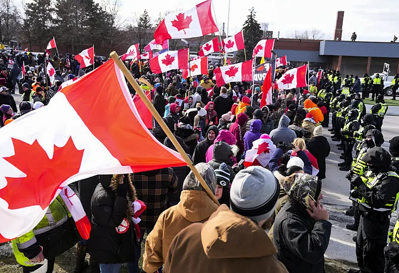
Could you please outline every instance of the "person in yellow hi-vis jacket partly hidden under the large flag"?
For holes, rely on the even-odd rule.
[[[38,270],[44,259],[47,259],[47,272],[51,273],[55,257],[78,242],[76,234],[71,214],[58,196],[33,230],[11,241],[12,250],[24,273]]]

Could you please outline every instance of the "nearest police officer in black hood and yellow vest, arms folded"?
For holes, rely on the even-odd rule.
[[[355,188],[350,195],[360,213],[356,238],[360,270],[349,272],[383,273],[390,217],[399,197],[399,176],[391,171],[391,156],[381,147],[368,150],[362,161],[367,164],[368,171],[352,178]]]

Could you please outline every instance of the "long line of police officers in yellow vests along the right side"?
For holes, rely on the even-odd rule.
[[[318,97],[332,112],[332,129],[328,131],[333,141],[340,141],[337,146],[343,151],[340,158],[344,162],[338,166],[341,171],[347,171],[349,199],[353,202],[347,214],[354,216],[355,223],[348,224],[347,228],[357,231],[354,240],[360,269],[349,272],[399,273],[399,220],[389,232],[391,214],[396,211],[399,199],[399,136],[390,140],[391,154],[381,147],[384,142],[381,127],[388,110],[381,94],[382,79],[378,74],[374,79],[365,74],[362,80],[363,98],[368,97],[370,91],[373,99],[380,93],[376,105],[366,114],[360,94],[351,89],[353,77],[347,76],[341,89],[339,72],[328,71],[326,76],[328,82],[320,86],[323,89]],[[398,75],[394,79],[398,85],[397,79]],[[387,246],[388,234],[391,243]]]

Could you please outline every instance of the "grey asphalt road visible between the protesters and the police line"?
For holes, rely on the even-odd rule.
[[[389,148],[389,140],[398,136],[398,122],[399,117],[386,116],[382,127],[382,133],[384,135],[383,148]],[[331,123],[330,123],[331,127]],[[323,200],[322,203],[329,211],[330,222],[332,223],[332,231],[330,242],[328,245],[325,257],[332,260],[343,261],[346,263],[357,264],[355,254],[355,243],[352,241],[352,237],[356,235],[356,232],[345,228],[346,224],[353,223],[353,217],[345,215],[345,211],[352,205],[352,202],[348,199],[349,197],[349,182],[345,178],[345,172],[338,169],[337,163],[342,162],[339,159],[341,153],[337,149],[336,144],[339,142],[331,141],[331,134],[327,130],[324,130],[324,136],[327,137],[331,152],[326,159],[326,179],[322,183]],[[391,225],[394,226],[396,222],[397,214],[394,213],[391,219]]]

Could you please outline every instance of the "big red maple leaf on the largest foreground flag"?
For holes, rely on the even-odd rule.
[[[6,177],[7,186],[0,189],[0,198],[8,203],[9,209],[32,205],[45,209],[60,185],[79,172],[83,150],[78,150],[70,137],[64,147],[54,146],[50,159],[37,139],[32,145],[11,140],[15,155],[3,158],[26,176]]]

